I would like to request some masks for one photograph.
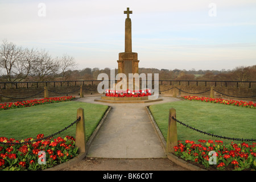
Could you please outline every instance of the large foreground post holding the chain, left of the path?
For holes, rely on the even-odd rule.
[[[77,119],[81,117],[80,121],[76,123],[76,144],[78,152],[86,152],[86,135],[85,135],[85,122],[84,122],[84,109],[77,109]]]

